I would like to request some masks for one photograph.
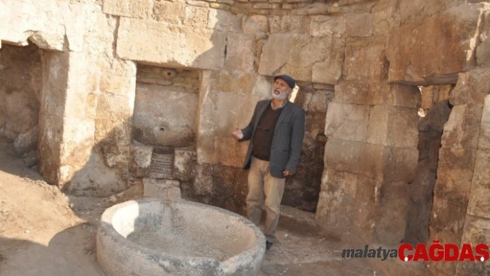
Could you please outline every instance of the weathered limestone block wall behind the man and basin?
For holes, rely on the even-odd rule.
[[[271,76],[292,75],[307,133],[284,203],[384,243],[414,222],[419,86],[447,86],[425,221],[430,239],[476,243],[490,219],[490,8],[477,2],[1,0],[0,39],[41,49],[39,170],[74,194],[171,178],[243,214],[247,144],[230,131],[270,97]]]

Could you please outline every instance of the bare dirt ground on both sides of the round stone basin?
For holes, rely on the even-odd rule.
[[[43,180],[34,156],[15,156],[0,141],[0,275],[103,275],[96,260],[100,214],[140,198],[142,187],[108,199],[69,196]],[[280,242],[266,252],[261,276],[424,275],[424,270],[403,267],[398,260],[341,258],[347,243],[356,246],[354,239],[320,237],[281,224],[277,234]]]

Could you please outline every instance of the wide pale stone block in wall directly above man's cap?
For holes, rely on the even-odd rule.
[[[318,48],[325,49],[318,51]],[[334,37],[309,37],[307,35],[274,34],[269,36],[260,57],[259,74],[289,73],[296,80],[325,82],[338,80],[337,70],[342,68],[343,43]],[[321,71],[329,65],[332,76],[312,80],[311,70]],[[316,66],[316,67],[314,67]],[[333,83],[335,84],[336,81]]]

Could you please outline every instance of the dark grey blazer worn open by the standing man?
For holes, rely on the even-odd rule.
[[[246,153],[244,169],[248,169],[251,163],[253,137],[259,125],[260,117],[264,113],[271,100],[257,102],[250,123],[242,129],[244,137],[239,141],[250,140]],[[278,122],[275,125],[271,145],[270,170],[276,178],[284,178],[284,169],[293,174],[296,173],[301,147],[305,136],[305,111],[298,105],[287,100],[282,107]]]

